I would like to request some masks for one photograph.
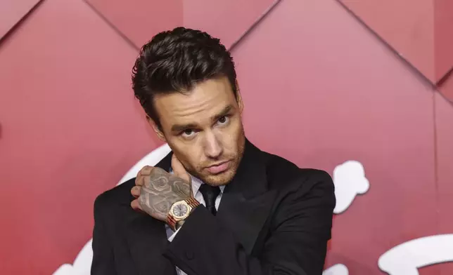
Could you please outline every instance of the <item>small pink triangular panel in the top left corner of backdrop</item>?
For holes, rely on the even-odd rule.
[[[37,5],[40,0],[1,0],[0,39]]]

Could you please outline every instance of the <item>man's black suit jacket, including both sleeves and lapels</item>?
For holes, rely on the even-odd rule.
[[[169,170],[171,153],[158,167]],[[301,169],[245,144],[217,216],[198,206],[177,236],[132,210],[134,179],[94,203],[93,275],[321,274],[336,200],[321,170]]]

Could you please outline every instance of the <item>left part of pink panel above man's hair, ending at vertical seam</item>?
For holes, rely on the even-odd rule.
[[[85,1],[137,48],[158,32],[182,25],[182,0]]]

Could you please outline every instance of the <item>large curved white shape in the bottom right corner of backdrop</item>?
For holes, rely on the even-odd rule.
[[[383,253],[379,268],[389,275],[419,275],[419,268],[453,262],[453,234],[426,236],[401,243]]]

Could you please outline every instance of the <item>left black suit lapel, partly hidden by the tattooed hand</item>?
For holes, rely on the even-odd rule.
[[[171,156],[165,156],[156,167],[169,170]],[[164,222],[130,208],[125,227],[131,257],[140,275],[176,275],[174,265],[162,255],[168,245]]]

